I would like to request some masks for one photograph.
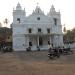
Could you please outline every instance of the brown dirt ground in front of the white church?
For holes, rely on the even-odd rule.
[[[75,75],[75,53],[50,60],[48,51],[0,52],[0,75]]]

